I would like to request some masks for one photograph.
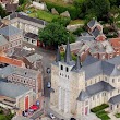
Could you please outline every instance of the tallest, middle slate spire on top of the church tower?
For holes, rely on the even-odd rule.
[[[64,62],[69,63],[70,61],[72,61],[72,57],[71,57],[70,44],[69,44],[69,40],[68,40],[68,44],[67,44],[67,47],[65,47]]]

